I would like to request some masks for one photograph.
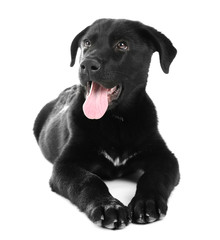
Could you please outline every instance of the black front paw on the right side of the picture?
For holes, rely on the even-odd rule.
[[[128,205],[133,223],[145,224],[161,220],[167,212],[167,202],[163,198],[134,197]]]

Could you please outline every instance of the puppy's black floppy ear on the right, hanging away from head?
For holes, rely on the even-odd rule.
[[[170,64],[177,53],[171,41],[161,32],[146,25],[142,25],[141,34],[148,41],[151,40],[154,50],[159,52],[161,68],[165,73],[169,73]]]

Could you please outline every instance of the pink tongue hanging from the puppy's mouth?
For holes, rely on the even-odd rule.
[[[83,112],[89,119],[100,119],[108,108],[108,89],[92,82],[89,95],[83,104]]]

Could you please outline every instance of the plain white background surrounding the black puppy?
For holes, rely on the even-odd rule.
[[[1,1],[1,239],[219,239],[219,1]],[[120,231],[94,226],[52,193],[52,165],[32,135],[41,107],[78,82],[70,68],[74,36],[98,18],[140,20],[178,49],[170,74],[152,59],[147,91],[160,131],[179,159],[180,185],[167,217]],[[127,204],[135,185],[108,183]]]

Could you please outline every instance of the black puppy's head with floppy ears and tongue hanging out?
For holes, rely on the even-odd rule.
[[[71,67],[78,47],[80,82],[86,89],[83,110],[90,119],[101,118],[107,109],[145,89],[155,51],[165,73],[176,56],[166,36],[129,20],[100,19],[81,31],[71,45]]]

